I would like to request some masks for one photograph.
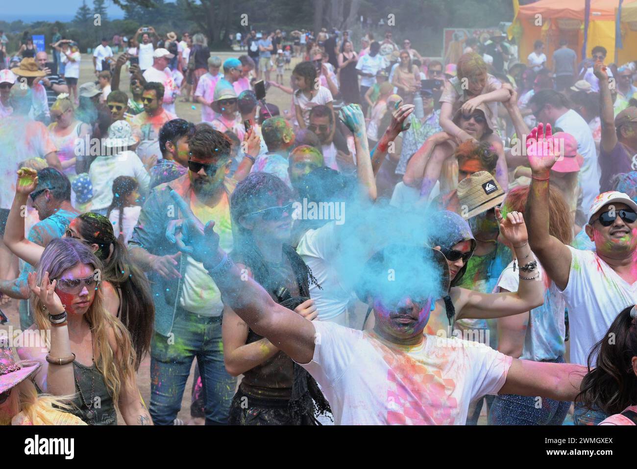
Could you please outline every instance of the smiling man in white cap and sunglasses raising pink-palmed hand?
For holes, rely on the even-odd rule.
[[[549,234],[548,176],[558,156],[545,144],[552,131],[534,129],[537,144],[527,147],[533,172],[526,205],[529,244],[548,276],[562,292],[569,313],[571,362],[586,364],[590,350],[626,306],[637,303],[637,204],[626,194],[599,194],[590,204],[585,232],[596,251],[562,244]],[[531,140],[534,144],[536,139]],[[586,415],[584,415],[586,414]],[[575,424],[599,423],[602,412],[575,406]]]

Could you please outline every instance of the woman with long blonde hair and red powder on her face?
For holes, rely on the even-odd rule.
[[[135,351],[124,325],[103,305],[103,265],[81,241],[54,239],[37,273],[29,274],[35,324],[50,331],[47,348],[18,348],[35,360],[40,391],[76,394],[72,412],[89,425],[116,425],[119,409],[128,425],[152,424],[136,382]],[[25,332],[26,333],[26,332]]]

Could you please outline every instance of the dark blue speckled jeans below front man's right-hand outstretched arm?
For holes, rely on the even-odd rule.
[[[543,362],[564,363],[564,359]],[[489,425],[561,425],[570,406],[570,401],[500,394],[490,407]]]

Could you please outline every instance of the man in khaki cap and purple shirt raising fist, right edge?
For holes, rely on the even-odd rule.
[[[595,64],[595,75],[608,82],[608,69],[603,63]],[[608,86],[599,89],[601,101],[601,140],[599,142],[599,190],[612,188],[615,174],[637,169],[637,107],[631,106],[617,114],[613,110],[613,98]]]

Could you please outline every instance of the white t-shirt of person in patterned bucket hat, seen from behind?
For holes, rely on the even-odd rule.
[[[92,209],[106,209],[113,202],[113,181],[118,176],[131,176],[140,184],[140,192],[148,193],[150,175],[134,151],[122,151],[115,156],[98,156],[90,163],[89,177],[93,184]]]

